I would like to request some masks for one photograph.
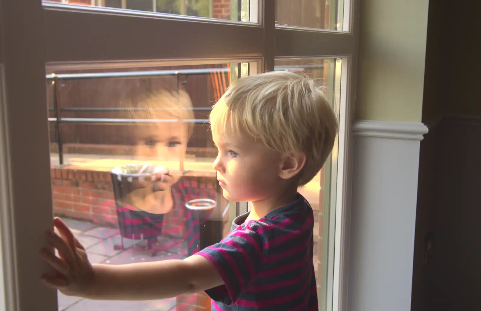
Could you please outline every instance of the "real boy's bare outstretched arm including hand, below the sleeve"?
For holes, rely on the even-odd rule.
[[[214,266],[193,255],[184,260],[163,260],[126,265],[90,264],[83,246],[56,218],[56,233],[47,233],[59,257],[42,249],[40,257],[56,272],[42,279],[66,295],[101,300],[151,300],[195,293],[224,284]]]

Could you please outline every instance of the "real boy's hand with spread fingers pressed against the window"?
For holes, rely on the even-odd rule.
[[[54,275],[43,274],[41,279],[68,296],[84,296],[93,283],[94,270],[87,253],[74,234],[60,218],[53,220],[57,234],[52,230],[45,233],[49,248],[40,249],[40,258],[53,268]],[[54,249],[58,250],[59,257]]]

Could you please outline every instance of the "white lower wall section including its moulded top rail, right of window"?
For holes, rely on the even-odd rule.
[[[410,310],[419,145],[427,130],[417,122],[353,126],[347,311]]]

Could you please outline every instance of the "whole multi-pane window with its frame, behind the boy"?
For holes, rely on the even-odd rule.
[[[6,134],[0,141],[5,149],[0,171],[10,174],[2,175],[0,182],[0,196],[6,200],[1,219],[12,220],[1,224],[2,249],[11,254],[4,256],[4,266],[12,268],[3,275],[9,280],[4,288],[6,309],[34,310],[42,305],[48,311],[208,310],[202,293],[146,302],[62,295],[57,299],[33,281],[39,268],[31,258],[42,243],[39,233],[51,224],[52,211],[63,215],[88,247],[90,259],[112,264],[187,256],[193,241],[186,234],[188,221],[195,220],[191,227],[197,226],[195,230],[208,237],[191,245],[201,247],[220,239],[245,202],[227,202],[210,184],[213,145],[204,124],[209,107],[236,78],[291,70],[319,79],[339,114],[332,155],[299,191],[316,210],[314,260],[320,308],[343,310],[349,208],[345,176],[350,165],[357,2],[303,0],[296,6],[284,0],[39,3],[2,5],[4,16],[15,16],[3,21],[5,52],[0,55],[8,64],[1,67],[2,85],[8,91],[2,90],[1,97],[5,117],[0,125]],[[17,27],[19,22],[24,26]],[[165,100],[179,90],[186,95],[178,102]],[[155,96],[163,100],[152,102]],[[173,108],[155,104],[169,102],[187,107],[182,111],[189,111],[190,117],[179,122],[179,117],[165,112]],[[152,180],[154,175],[160,177]],[[136,184],[139,177],[143,187]],[[172,183],[164,182],[168,178]],[[178,189],[170,191],[169,204],[150,204],[146,198],[155,196],[152,189],[161,186]],[[183,189],[180,186],[208,191],[175,201]],[[138,201],[139,197],[144,200]],[[132,215],[129,207],[142,204],[143,212],[167,218],[151,215],[158,233],[154,237],[126,229],[124,220]],[[173,208],[175,204],[181,208]],[[199,205],[206,208],[196,208]],[[201,220],[207,229],[198,226]],[[15,267],[24,270],[10,273]],[[16,286],[10,286],[13,282]]]

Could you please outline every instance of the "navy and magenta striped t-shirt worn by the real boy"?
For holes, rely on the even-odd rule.
[[[212,310],[318,310],[309,203],[298,194],[260,220],[245,222],[248,215],[237,217],[220,243],[197,253],[224,281],[205,291]]]

